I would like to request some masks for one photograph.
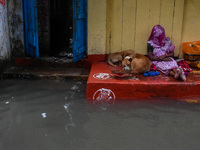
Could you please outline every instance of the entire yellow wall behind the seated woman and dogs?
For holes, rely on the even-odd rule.
[[[181,56],[182,42],[200,40],[199,8],[199,0],[88,0],[88,54],[146,54],[151,29],[161,24]]]

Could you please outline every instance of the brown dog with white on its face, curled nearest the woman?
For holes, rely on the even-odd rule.
[[[136,70],[138,73],[144,73],[150,71],[151,61],[142,54],[132,54],[124,58],[122,66]]]

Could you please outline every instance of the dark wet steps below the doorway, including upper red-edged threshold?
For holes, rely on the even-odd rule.
[[[25,79],[66,79],[88,78],[90,67],[85,59],[73,62],[66,57],[42,57],[34,59],[17,57],[15,64],[8,67],[0,74],[0,78],[25,78]]]

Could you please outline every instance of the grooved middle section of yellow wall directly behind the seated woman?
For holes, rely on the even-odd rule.
[[[138,53],[147,54],[147,40],[151,30],[160,24],[175,45],[175,55],[179,55],[184,0],[108,1],[108,53],[134,49]]]

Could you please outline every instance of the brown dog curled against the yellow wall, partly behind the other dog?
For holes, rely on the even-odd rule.
[[[122,51],[122,52],[116,52],[116,53],[112,53],[110,55],[108,55],[107,57],[107,63],[111,66],[116,67],[115,63],[121,63],[122,60],[131,54],[135,54],[134,50],[126,50],[126,51]]]

